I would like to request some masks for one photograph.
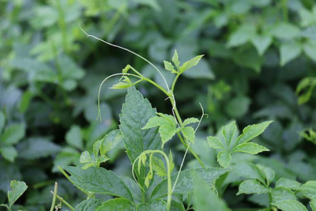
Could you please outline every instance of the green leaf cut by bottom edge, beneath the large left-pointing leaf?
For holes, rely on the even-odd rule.
[[[134,211],[136,205],[126,198],[107,200],[96,211]]]

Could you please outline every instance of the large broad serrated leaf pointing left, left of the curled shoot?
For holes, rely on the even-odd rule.
[[[70,173],[74,185],[81,190],[133,200],[132,193],[122,179],[110,170],[95,166],[87,170],[73,166],[64,169]]]

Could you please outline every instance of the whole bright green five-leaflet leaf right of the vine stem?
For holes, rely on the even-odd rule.
[[[248,141],[263,133],[264,129],[270,123],[272,123],[272,121],[249,125],[237,138],[237,126],[236,123],[233,121],[222,128],[222,137],[224,139],[214,136],[207,137],[208,144],[211,148],[222,150],[217,155],[218,163],[222,167],[227,168],[231,160],[231,153],[244,152],[251,155],[256,155],[263,151],[269,151],[264,146]]]

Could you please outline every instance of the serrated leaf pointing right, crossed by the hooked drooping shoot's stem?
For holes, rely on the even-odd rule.
[[[223,168],[205,168],[205,169],[190,169],[180,172],[176,187],[173,193],[188,193],[193,191],[194,179],[193,176],[201,176],[209,185],[211,185],[219,176],[228,172],[229,169]],[[171,176],[172,184],[175,183],[177,177],[177,172]],[[154,188],[151,199],[160,198],[168,194],[168,182],[167,180],[162,180]]]

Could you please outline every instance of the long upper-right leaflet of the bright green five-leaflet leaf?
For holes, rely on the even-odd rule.
[[[252,125],[246,126],[243,130],[243,133],[239,135],[235,145],[239,145],[241,143],[244,143],[256,138],[257,136],[262,134],[265,128],[267,128],[269,124],[271,124],[272,122],[273,121],[266,121],[263,123],[252,124]]]

